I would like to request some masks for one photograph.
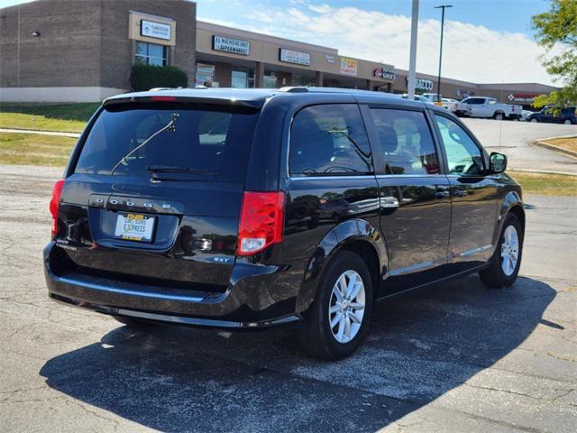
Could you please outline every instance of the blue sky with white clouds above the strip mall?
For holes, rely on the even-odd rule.
[[[18,3],[24,2],[0,0]],[[547,0],[420,0],[417,71],[436,74],[441,13],[435,5],[443,4],[453,5],[445,15],[445,77],[561,84],[541,66],[545,52],[530,27],[532,15],[548,10]],[[411,0],[197,0],[199,20],[315,43],[400,69],[408,68],[410,14]]]

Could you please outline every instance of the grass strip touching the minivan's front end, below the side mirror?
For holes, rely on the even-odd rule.
[[[577,176],[563,174],[524,173],[508,171],[526,194],[542,196],[577,196]]]

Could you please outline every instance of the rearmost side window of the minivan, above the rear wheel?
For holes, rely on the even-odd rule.
[[[355,104],[308,106],[290,133],[290,174],[370,173],[371,147]]]

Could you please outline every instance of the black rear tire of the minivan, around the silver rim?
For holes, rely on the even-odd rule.
[[[350,341],[340,343],[333,335],[328,309],[334,284],[347,271],[354,271],[361,277],[364,285],[365,302],[361,327]],[[321,282],[316,290],[316,299],[309,309],[309,317],[299,334],[299,342],[307,353],[325,360],[343,359],[352,355],[361,345],[371,322],[372,291],[371,273],[362,258],[358,254],[348,251],[337,253],[333,260],[328,263],[321,277]]]

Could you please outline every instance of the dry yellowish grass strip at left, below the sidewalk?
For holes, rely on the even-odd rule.
[[[0,134],[0,164],[64,167],[76,138],[41,134]]]

